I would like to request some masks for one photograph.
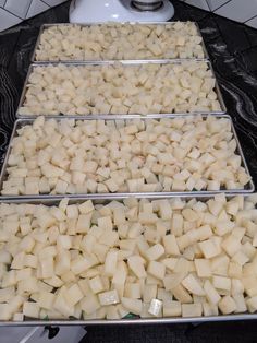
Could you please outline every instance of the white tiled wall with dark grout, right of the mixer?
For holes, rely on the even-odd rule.
[[[257,28],[257,0],[181,0]]]

